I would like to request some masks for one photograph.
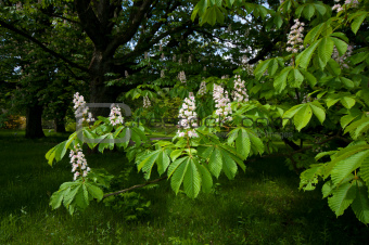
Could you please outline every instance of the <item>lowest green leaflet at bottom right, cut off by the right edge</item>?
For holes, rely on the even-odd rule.
[[[368,188],[359,180],[355,180],[356,198],[352,203],[351,207],[355,212],[355,216],[362,223],[369,223],[369,198]]]

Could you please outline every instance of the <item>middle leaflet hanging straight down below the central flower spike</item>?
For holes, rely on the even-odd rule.
[[[199,195],[201,189],[201,175],[198,170],[194,159],[188,162],[188,167],[183,178],[184,193],[190,198],[195,198]]]

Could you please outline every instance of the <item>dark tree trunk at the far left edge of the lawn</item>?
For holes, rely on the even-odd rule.
[[[42,111],[43,107],[41,105],[31,105],[27,108],[26,138],[28,139],[44,138],[41,122]]]

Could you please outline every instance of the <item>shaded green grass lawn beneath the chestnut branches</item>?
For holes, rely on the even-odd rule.
[[[69,216],[51,210],[50,195],[71,181],[68,159],[50,167],[46,152],[65,134],[25,140],[22,132],[0,131],[0,244],[366,244],[369,229],[352,210],[335,218],[319,191],[300,192],[298,177],[283,158],[247,164],[232,181],[215,180],[214,194],[189,199],[169,182],[138,190],[151,201],[148,215],[127,214],[103,203]],[[49,132],[48,132],[49,133]],[[119,173],[130,167],[123,153],[88,155],[91,167]],[[155,178],[155,177],[153,177]],[[142,183],[136,169],[123,186]],[[122,183],[120,183],[122,184]],[[117,184],[119,185],[119,184]]]

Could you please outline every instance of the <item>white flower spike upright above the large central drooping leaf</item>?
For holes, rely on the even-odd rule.
[[[195,112],[195,100],[193,95],[190,95],[189,98],[184,99],[184,102],[182,104],[182,107],[179,109],[179,122],[178,126],[182,129],[186,129],[186,131],[178,130],[177,136],[178,137],[186,137],[186,134],[189,138],[196,138],[199,134],[193,129],[193,127],[198,127],[198,114]]]

